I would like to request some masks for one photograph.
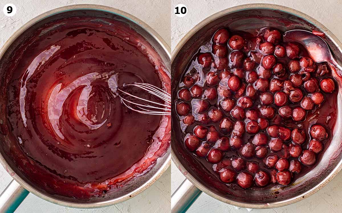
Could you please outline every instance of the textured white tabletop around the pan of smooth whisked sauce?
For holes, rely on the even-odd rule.
[[[13,3],[17,7],[17,12],[13,17],[6,17],[2,13],[2,8],[7,3]],[[170,5],[171,3],[162,2],[162,0],[0,0],[0,47],[4,42],[23,24],[35,16],[55,9],[57,7],[70,4],[101,4],[115,7],[128,12],[137,18],[143,20],[146,24],[156,30],[163,39],[170,45]],[[156,13],[159,11],[159,13]],[[162,15],[159,15],[162,14]],[[16,213],[67,213],[67,212],[169,212],[170,211],[170,176],[169,168],[152,186],[141,194],[130,200],[116,204],[114,206],[100,209],[73,209],[58,206],[33,194],[29,194],[24,202],[16,210]],[[0,166],[0,192],[12,180],[10,174]]]

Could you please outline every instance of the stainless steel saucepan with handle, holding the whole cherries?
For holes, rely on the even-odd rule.
[[[326,34],[325,41],[331,48],[334,58],[339,64],[342,62],[341,42],[325,26],[312,17],[274,4],[246,4],[232,7],[218,12],[201,21],[190,30],[172,52],[172,95],[177,95],[175,88],[177,82],[186,68],[188,62],[197,52],[198,47],[209,41],[214,32],[222,27],[231,31],[256,29],[271,26],[283,32],[292,29],[312,31],[316,29]],[[341,87],[341,81],[338,82]],[[177,141],[175,134],[180,132],[178,122],[172,123],[171,152],[175,165],[187,178],[172,195],[172,212],[185,212],[196,200],[201,192],[220,201],[238,207],[251,209],[276,208],[300,201],[325,186],[341,170],[342,166],[342,91],[338,93],[338,120],[331,135],[332,141],[317,166],[303,177],[295,180],[287,187],[272,187],[263,190],[244,193],[241,190],[230,189],[224,192],[216,184],[208,185],[205,180],[210,176],[209,171],[202,168],[194,160],[191,153],[181,146],[183,141]],[[173,108],[172,120],[176,121],[176,112]],[[219,185],[219,184],[217,184]]]

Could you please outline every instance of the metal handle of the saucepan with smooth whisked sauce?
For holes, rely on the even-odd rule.
[[[13,213],[28,193],[18,182],[12,180],[0,195],[0,212]]]

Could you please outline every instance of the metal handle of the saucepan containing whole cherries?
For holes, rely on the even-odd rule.
[[[171,196],[171,213],[186,212],[201,193],[202,191],[185,179]]]

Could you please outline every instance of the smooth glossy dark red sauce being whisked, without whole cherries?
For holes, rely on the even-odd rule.
[[[134,82],[170,92],[159,55],[128,24],[49,23],[16,50],[7,73],[8,154],[49,193],[103,196],[146,173],[169,147],[170,117],[131,111],[118,97],[118,87]]]

